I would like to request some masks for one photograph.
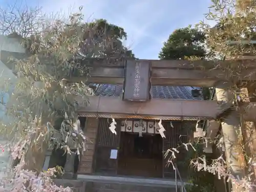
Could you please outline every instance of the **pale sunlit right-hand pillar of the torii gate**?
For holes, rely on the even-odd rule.
[[[216,86],[216,96],[219,101],[230,102],[234,99],[233,93],[228,90],[227,83],[219,83]],[[225,154],[228,169],[234,177],[245,175],[245,159],[240,145],[239,137],[241,135],[240,114],[233,110],[222,120],[222,132],[225,143]]]

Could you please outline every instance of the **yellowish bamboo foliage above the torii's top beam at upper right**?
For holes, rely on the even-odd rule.
[[[207,20],[217,23],[211,27],[204,22],[200,28],[206,33],[207,47],[216,55],[224,55],[229,59],[239,55],[254,54],[255,46],[248,44],[255,40],[255,1],[250,0],[211,0]],[[246,40],[245,44],[240,42]],[[237,41],[230,45],[229,41]]]

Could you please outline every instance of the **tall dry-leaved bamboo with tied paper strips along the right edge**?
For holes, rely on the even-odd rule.
[[[240,174],[234,174],[234,171],[232,173],[230,164],[233,162],[227,162],[229,161],[227,157],[230,157],[227,152],[225,160],[221,156],[214,159],[211,164],[206,164],[205,158],[200,157],[191,163],[198,171],[216,174],[218,178],[228,178],[232,184],[232,191],[256,191],[254,185],[256,169],[253,163],[255,162],[255,125],[245,122],[244,113],[247,109],[242,106],[243,102],[248,102],[248,106],[251,107],[250,102],[255,99],[255,88],[251,90],[250,94],[246,93],[244,88],[253,87],[255,82],[250,81],[250,77],[255,75],[256,70],[250,70],[245,74],[243,71],[253,63],[252,60],[238,61],[243,58],[255,59],[256,1],[211,0],[209,10],[209,13],[206,14],[206,22],[201,22],[199,27],[206,35],[207,59],[216,61],[214,70],[220,71],[221,77],[219,76],[219,78],[223,80],[223,84],[225,84],[223,87],[226,87],[225,89],[229,92],[230,98],[225,101],[225,104],[230,104],[230,111],[240,120],[240,124],[234,128],[233,134],[223,133],[223,141],[226,143],[224,143],[224,147],[222,146],[226,151],[230,151],[232,158],[237,159],[235,161],[237,161],[236,166],[240,164],[238,168]],[[208,20],[215,22],[216,25],[209,26]],[[230,62],[225,61],[224,63],[223,59],[230,60]],[[245,78],[248,79],[246,83],[242,82],[242,79]],[[217,94],[220,95],[220,93]],[[225,118],[222,117],[218,120],[225,122]],[[210,142],[217,145],[223,143],[218,139],[220,138]],[[238,175],[243,176],[239,178]]]

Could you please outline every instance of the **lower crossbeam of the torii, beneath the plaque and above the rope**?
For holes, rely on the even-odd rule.
[[[81,106],[81,116],[170,120],[216,119],[229,108],[215,100],[151,99],[148,102],[131,102],[122,101],[119,97],[90,96],[89,101],[89,106]],[[246,112],[246,121],[256,119],[256,106],[253,104],[256,103],[252,103]],[[244,103],[245,107],[247,105],[248,103]]]

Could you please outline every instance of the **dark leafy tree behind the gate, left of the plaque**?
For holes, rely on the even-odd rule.
[[[81,15],[74,16],[81,17]],[[72,17],[74,18],[74,16]],[[62,25],[63,31],[61,31],[61,34],[65,35],[65,37],[73,34],[81,35],[82,42],[80,42],[79,47],[84,58],[120,58],[124,56],[134,58],[132,51],[122,44],[122,41],[127,38],[124,29],[109,24],[105,19],[97,19],[91,23],[80,22],[79,24]],[[41,37],[39,34],[32,34],[24,38],[23,43],[28,53],[35,54],[41,44]]]

